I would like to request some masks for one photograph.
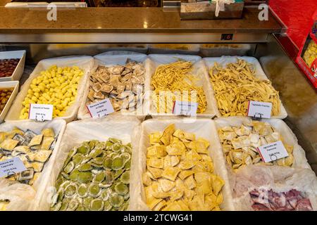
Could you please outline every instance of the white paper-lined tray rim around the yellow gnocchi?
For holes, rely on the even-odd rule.
[[[75,103],[71,105],[63,117],[58,117],[66,122],[70,122],[76,119],[77,111],[80,107],[80,101],[82,99],[82,94],[84,92],[86,82],[92,69],[92,65],[94,60],[90,56],[67,56],[67,57],[59,57],[59,58],[49,58],[45,60],[39,61],[33,72],[30,74],[30,77],[27,81],[21,86],[20,92],[18,96],[15,98],[13,105],[11,106],[8,115],[6,116],[6,121],[9,120],[19,120],[20,118],[20,111],[23,109],[22,102],[27,96],[27,90],[30,88],[30,84],[32,83],[32,79],[39,77],[40,72],[43,70],[47,70],[51,65],[57,65],[58,67],[64,66],[73,66],[77,65],[80,69],[84,71],[84,75],[82,75],[80,82],[77,87],[77,96],[75,98]]]

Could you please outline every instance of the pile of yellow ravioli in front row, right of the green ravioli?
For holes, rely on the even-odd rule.
[[[209,141],[170,124],[163,134],[150,134],[149,142],[142,181],[151,210],[220,210],[225,181],[213,173]]]

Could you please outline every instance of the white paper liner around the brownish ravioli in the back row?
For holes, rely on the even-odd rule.
[[[112,55],[112,54],[108,54],[108,53],[101,53],[97,56],[94,56],[94,69],[92,70],[92,72],[90,73],[89,77],[94,73],[94,71],[97,70],[98,65],[104,65],[106,67],[110,67],[113,65],[125,65],[125,62],[128,59],[131,60],[135,60],[139,63],[142,63],[144,65],[144,68],[146,68],[146,60],[147,60],[147,55],[144,55],[142,53],[132,53],[132,52],[117,52],[118,54]],[[122,53],[122,54],[120,54]],[[80,108],[78,110],[78,119],[82,120],[82,119],[87,119],[90,117],[88,110],[87,110],[87,103],[88,103],[88,93],[89,93],[89,77],[87,78],[88,81],[86,83],[85,86],[85,91],[82,97],[82,101],[80,103]],[[144,73],[144,78],[146,79],[146,72]],[[145,85],[147,84],[147,82],[145,81],[144,83],[144,93],[145,90],[147,89],[145,87]],[[146,101],[148,101],[146,98],[144,98],[144,102],[142,105],[140,105],[139,107],[141,108],[137,108],[136,110],[133,110],[131,112],[129,111],[125,111],[125,112],[115,112],[112,113],[112,115],[119,115],[119,114],[123,114],[123,115],[136,115],[137,118],[139,118],[139,120],[144,120],[144,117],[147,115],[147,108],[146,105],[148,103],[146,103]]]

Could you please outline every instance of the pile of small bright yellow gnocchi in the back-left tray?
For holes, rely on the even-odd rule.
[[[28,118],[30,103],[52,104],[53,117],[62,117],[66,110],[75,103],[77,89],[84,72],[77,66],[58,67],[52,65],[32,79],[27,96],[22,102],[20,119]]]

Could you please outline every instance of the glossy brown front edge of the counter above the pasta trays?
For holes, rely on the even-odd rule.
[[[228,32],[224,32],[228,33]],[[45,33],[0,34],[0,43],[259,43],[267,33],[237,33],[230,41],[222,33]]]

